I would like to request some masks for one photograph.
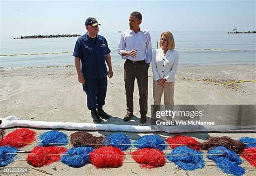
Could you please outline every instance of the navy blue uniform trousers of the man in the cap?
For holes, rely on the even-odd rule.
[[[85,79],[83,90],[87,94],[87,107],[95,110],[98,106],[105,105],[107,78]]]

